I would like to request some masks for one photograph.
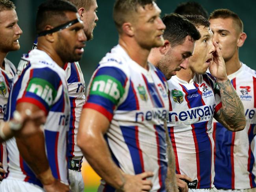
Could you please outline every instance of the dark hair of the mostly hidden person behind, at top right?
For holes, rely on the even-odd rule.
[[[194,1],[179,4],[174,10],[174,13],[180,15],[202,15],[203,17],[208,18],[208,12],[204,7]]]

